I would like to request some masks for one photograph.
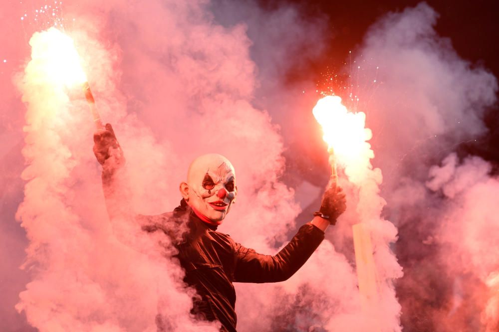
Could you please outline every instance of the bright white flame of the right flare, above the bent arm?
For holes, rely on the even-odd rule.
[[[352,170],[366,169],[366,164],[374,158],[371,145],[367,143],[372,132],[365,128],[366,115],[348,112],[338,96],[320,99],[312,113],[322,126],[322,138],[334,150],[336,160]]]

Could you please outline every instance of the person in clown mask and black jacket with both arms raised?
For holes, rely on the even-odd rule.
[[[94,134],[94,154],[102,165],[102,183],[110,219],[131,212],[124,208],[126,189],[118,185],[123,153],[107,124]],[[232,208],[238,193],[236,171],[218,154],[203,155],[189,166],[186,181],[180,183],[182,200],[173,212],[158,216],[137,216],[146,233],[161,232],[170,237],[185,270],[184,282],[194,287],[191,314],[199,320],[219,321],[221,331],[236,331],[234,282],[269,283],[291,277],[324,239],[324,231],[345,211],[345,194],[328,185],[321,206],[311,222],[301,226],[291,241],[276,255],[263,255],[217,231]],[[179,227],[185,225],[186,227]],[[179,234],[179,229],[182,233]],[[157,319],[158,331],[166,331]]]

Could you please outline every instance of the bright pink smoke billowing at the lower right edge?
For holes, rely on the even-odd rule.
[[[432,191],[445,197],[435,241],[442,245],[443,264],[454,279],[452,308],[441,318],[442,325],[497,331],[499,224],[494,201],[499,181],[489,175],[491,165],[478,157],[460,163],[451,154],[442,163],[430,169],[427,182]]]

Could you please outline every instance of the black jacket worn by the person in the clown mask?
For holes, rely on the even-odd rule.
[[[174,212],[141,218],[149,219],[150,226],[143,230],[162,230],[173,239],[178,249],[175,257],[186,272],[184,281],[201,297],[194,299],[192,314],[198,319],[220,321],[221,331],[236,331],[233,282],[284,281],[298,271],[324,239],[319,228],[305,224],[276,255],[262,255],[236,243],[230,235],[217,232],[216,226],[199,219],[184,200]],[[187,225],[187,231],[179,236],[175,230],[182,223]]]

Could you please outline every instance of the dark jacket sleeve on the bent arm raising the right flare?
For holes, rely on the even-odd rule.
[[[237,243],[234,281],[274,283],[287,280],[301,268],[324,239],[324,232],[308,223],[276,255],[262,255]]]

